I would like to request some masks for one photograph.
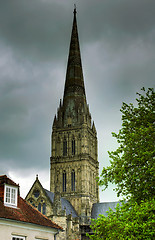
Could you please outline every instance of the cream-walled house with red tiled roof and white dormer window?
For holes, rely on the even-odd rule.
[[[62,227],[20,197],[19,185],[0,176],[0,239],[55,240]]]

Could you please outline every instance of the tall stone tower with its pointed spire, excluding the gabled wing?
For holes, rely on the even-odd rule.
[[[74,9],[63,101],[52,127],[50,191],[74,206],[81,224],[88,223],[99,201],[97,133],[86,100],[76,9]]]

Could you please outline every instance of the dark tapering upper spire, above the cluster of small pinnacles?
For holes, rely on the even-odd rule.
[[[85,87],[81,63],[80,45],[76,20],[76,6],[74,5],[73,27],[68,56],[64,99],[67,96],[82,96],[85,98]]]

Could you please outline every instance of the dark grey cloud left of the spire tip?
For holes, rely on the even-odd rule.
[[[69,18],[65,8],[60,9],[60,4],[54,1],[4,1],[0,8],[2,41],[22,57],[56,59],[64,51],[63,42],[68,37],[65,29]],[[57,54],[52,45],[59,46]]]

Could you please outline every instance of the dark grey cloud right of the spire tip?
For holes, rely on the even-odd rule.
[[[84,14],[86,8],[88,11]],[[90,39],[94,39],[95,36],[115,41],[121,38],[135,38],[144,36],[154,29],[155,2],[153,0],[147,2],[146,0],[105,0],[102,3],[89,1],[88,4],[88,1],[85,1],[85,8],[81,14],[87,16],[83,22],[87,26],[87,36],[92,32]]]

